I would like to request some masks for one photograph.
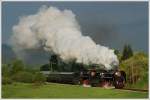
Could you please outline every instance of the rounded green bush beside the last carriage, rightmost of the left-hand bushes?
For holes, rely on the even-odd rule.
[[[45,83],[45,82],[46,82],[46,77],[45,77],[42,73],[37,72],[37,73],[34,75],[33,82],[34,82],[35,84],[42,84],[42,83]]]

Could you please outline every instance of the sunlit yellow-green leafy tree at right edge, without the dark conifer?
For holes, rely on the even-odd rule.
[[[120,69],[126,72],[128,84],[148,87],[148,56],[144,53],[135,53],[129,59],[122,61]]]

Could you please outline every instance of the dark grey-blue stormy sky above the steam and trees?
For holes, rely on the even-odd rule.
[[[42,5],[72,10],[83,35],[97,44],[122,50],[130,44],[148,53],[148,2],[2,2],[2,43],[9,44],[12,27],[21,16],[35,14]]]

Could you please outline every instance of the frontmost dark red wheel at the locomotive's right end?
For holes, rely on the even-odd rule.
[[[114,80],[114,86],[116,89],[122,89],[125,86],[125,79],[124,77],[119,77]]]

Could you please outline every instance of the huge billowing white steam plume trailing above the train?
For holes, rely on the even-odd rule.
[[[42,47],[58,54],[64,61],[76,59],[84,64],[102,64],[106,69],[119,63],[113,50],[82,35],[71,10],[41,7],[36,14],[20,18],[13,26],[11,40],[16,52]]]

